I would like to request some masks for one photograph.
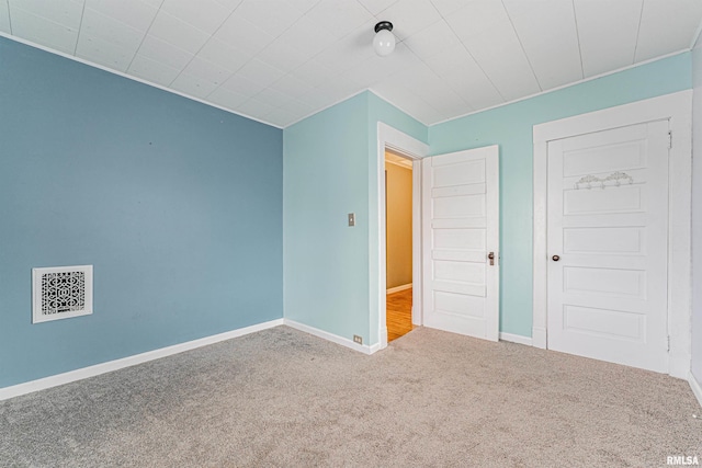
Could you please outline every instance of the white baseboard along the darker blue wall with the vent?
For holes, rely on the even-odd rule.
[[[70,370],[64,374],[57,374],[49,377],[31,380],[24,384],[18,384],[11,387],[0,388],[0,401],[7,400],[9,398],[19,397],[21,395],[32,393],[34,391],[57,387],[59,385],[70,384],[71,381],[94,377],[100,374],[111,373],[113,370],[118,370],[125,367],[143,364],[148,361],[159,359],[161,357],[182,353],[184,351],[194,350],[196,347],[206,346],[208,344],[218,343],[220,341],[231,340],[233,338],[244,336],[245,334],[254,333],[257,331],[270,329],[270,328],[282,326],[282,324],[283,324],[283,319],[271,320],[269,322],[258,323],[251,327],[245,327],[245,328],[227,331],[219,334],[213,334],[212,336],[205,336],[199,340],[188,341],[185,343],[161,347],[159,350],[147,351],[146,353],[135,354],[133,356],[122,357],[120,359],[109,361],[102,364],[95,364],[94,366],[83,367],[83,368]]]

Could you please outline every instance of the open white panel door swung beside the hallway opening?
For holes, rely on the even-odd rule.
[[[498,184],[497,146],[422,160],[426,327],[497,341]]]

